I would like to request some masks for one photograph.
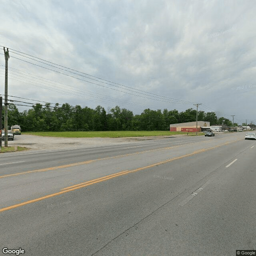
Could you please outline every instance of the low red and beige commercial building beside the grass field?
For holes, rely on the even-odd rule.
[[[197,131],[210,129],[210,122],[197,121]],[[180,124],[170,124],[170,132],[196,132],[196,121]]]

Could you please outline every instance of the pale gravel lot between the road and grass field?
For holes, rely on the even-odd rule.
[[[177,135],[175,135],[175,137],[176,136]],[[172,136],[145,136],[126,138],[56,138],[21,134],[15,135],[13,141],[8,140],[8,146],[21,146],[30,148],[31,150],[60,150],[130,144],[140,140],[159,140],[168,137]],[[4,146],[4,141],[2,141],[2,145]]]

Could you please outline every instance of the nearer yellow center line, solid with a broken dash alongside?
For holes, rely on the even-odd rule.
[[[232,142],[236,142],[238,140],[234,140]],[[211,147],[211,148],[207,148],[205,149],[204,151],[206,150],[211,150],[213,148],[217,148],[217,147],[220,147],[220,146],[224,146],[226,144],[230,144],[232,142],[226,142],[224,144],[221,144],[221,145],[218,145],[218,146],[214,146],[214,147]],[[33,199],[33,200],[29,200],[29,201],[26,201],[26,202],[23,202],[23,203],[20,203],[20,204],[14,204],[12,206],[8,206],[8,207],[5,207],[5,208],[2,208],[0,209],[0,212],[4,212],[6,210],[10,210],[10,209],[13,209],[13,208],[17,208],[19,206],[23,206],[23,205],[26,205],[26,204],[31,204],[31,203],[34,203],[34,202],[38,202],[40,200],[44,200],[44,199],[47,199],[47,198],[51,198],[53,196],[58,196],[60,194],[64,194],[66,192],[70,192],[70,191],[73,191],[73,190],[76,190],[76,189],[79,189],[79,188],[84,188],[86,186],[90,186],[92,184],[96,184],[96,183],[99,183],[99,182],[102,182],[104,180],[109,180],[109,179],[112,179],[112,178],[116,178],[118,176],[121,176],[121,175],[125,175],[125,174],[128,174],[128,173],[131,173],[131,172],[137,172],[139,170],[144,170],[144,169],[147,169],[147,168],[150,168],[150,167],[154,167],[158,164],[165,164],[167,162],[171,162],[171,161],[174,161],[174,160],[178,160],[178,159],[181,159],[181,158],[184,158],[184,157],[187,157],[187,156],[192,156],[194,154],[198,154],[200,152],[203,152],[203,151],[197,151],[197,152],[193,152],[193,153],[190,153],[190,154],[186,154],[186,155],[183,155],[183,156],[178,156],[178,157],[175,157],[175,158],[170,158],[170,159],[167,159],[167,160],[164,160],[162,162],[158,162],[156,164],[151,164],[151,165],[148,165],[148,166],[144,166],[144,167],[141,167],[141,168],[137,168],[135,170],[127,170],[127,171],[123,171],[123,172],[118,172],[118,173],[115,173],[115,174],[111,174],[111,175],[108,175],[108,176],[105,176],[105,177],[102,177],[102,178],[98,178],[98,179],[95,179],[95,180],[90,180],[88,182],[84,182],[84,183],[80,183],[80,184],[77,184],[77,185],[74,185],[74,186],[70,186],[68,188],[64,188],[62,191],[60,192],[56,192],[54,194],[50,194],[50,195],[47,195],[47,196],[42,196],[40,198],[36,198],[36,199]]]

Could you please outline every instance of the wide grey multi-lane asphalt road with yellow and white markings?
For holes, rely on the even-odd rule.
[[[244,135],[1,154],[1,249],[86,256],[256,250],[256,142]]]

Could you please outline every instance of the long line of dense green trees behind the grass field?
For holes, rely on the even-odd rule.
[[[224,117],[217,118],[215,112],[198,111],[198,120],[213,124],[232,122]],[[95,109],[71,106],[68,103],[51,106],[50,103],[35,104],[29,110],[19,112],[14,104],[8,105],[8,126],[20,125],[22,131],[116,131],[116,130],[169,130],[170,124],[196,121],[196,110],[145,109],[140,115],[131,110],[115,106],[106,112],[104,107]],[[4,124],[4,113],[2,113]],[[234,124],[237,125],[237,124]]]

